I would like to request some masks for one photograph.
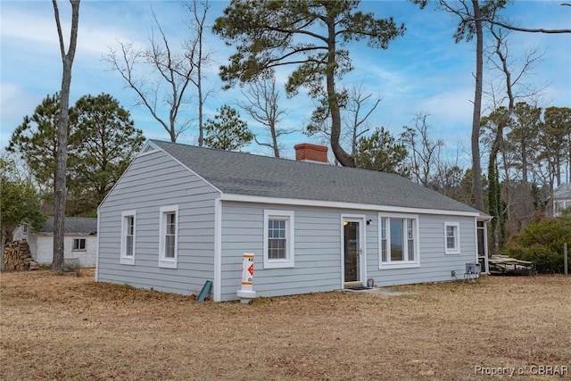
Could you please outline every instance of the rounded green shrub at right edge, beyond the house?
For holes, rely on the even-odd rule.
[[[533,261],[539,272],[561,273],[564,272],[563,244],[566,242],[567,251],[571,252],[571,217],[543,219],[522,230],[501,253],[517,260]]]

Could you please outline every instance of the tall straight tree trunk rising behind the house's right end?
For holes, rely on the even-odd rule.
[[[480,119],[482,113],[482,90],[484,69],[484,33],[480,19],[480,6],[472,0],[476,24],[476,90],[474,93],[474,113],[472,115],[472,171],[474,174],[474,196],[476,209],[484,211],[484,188],[482,186],[482,166],[480,163]]]

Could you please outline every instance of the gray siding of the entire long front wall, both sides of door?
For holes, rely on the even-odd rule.
[[[263,269],[264,210],[294,211],[295,267]],[[465,263],[475,261],[476,220],[472,217],[418,215],[420,266],[379,269],[378,213],[261,203],[222,203],[221,300],[236,299],[242,280],[242,254],[254,253],[254,286],[259,296],[332,291],[343,285],[342,215],[364,215],[366,277],[377,286],[453,280],[461,278]],[[460,254],[444,254],[444,221],[459,222]]]

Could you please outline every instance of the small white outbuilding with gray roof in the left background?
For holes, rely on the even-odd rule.
[[[76,261],[79,267],[95,267],[97,252],[97,219],[66,217],[64,222],[64,261]],[[54,217],[49,217],[42,228],[34,231],[22,224],[13,235],[15,241],[27,241],[34,261],[51,264],[54,260]]]

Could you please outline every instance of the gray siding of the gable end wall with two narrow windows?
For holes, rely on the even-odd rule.
[[[138,157],[99,207],[98,280],[198,293],[214,270],[212,186],[166,153]],[[160,208],[178,205],[178,268],[159,268]],[[120,264],[121,212],[136,211],[135,265]]]

